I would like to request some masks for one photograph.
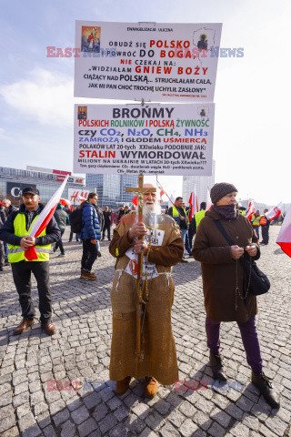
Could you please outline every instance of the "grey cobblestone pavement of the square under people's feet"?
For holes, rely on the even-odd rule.
[[[97,280],[82,281],[81,246],[72,242],[65,243],[64,258],[51,257],[53,321],[58,329],[53,337],[46,336],[38,322],[21,336],[12,335],[21,320],[19,304],[10,268],[0,273],[0,435],[290,436],[291,259],[275,243],[278,230],[271,227],[270,244],[261,248],[258,264],[272,288],[258,298],[257,317],[266,374],[281,393],[278,411],[271,410],[250,383],[236,323],[223,323],[221,330],[230,383],[226,390],[213,385],[200,264],[194,259],[173,270],[172,320],[179,379],[187,381],[188,387],[160,386],[149,401],[143,382],[133,380],[130,390],[115,396],[115,384],[108,381],[114,259],[108,243],[102,243],[102,258],[95,262]],[[67,236],[66,231],[66,241]],[[33,285],[37,302],[35,279]],[[49,390],[55,388],[54,381],[59,381],[58,390]],[[66,381],[72,381],[75,390]],[[196,381],[200,381],[198,390]]]

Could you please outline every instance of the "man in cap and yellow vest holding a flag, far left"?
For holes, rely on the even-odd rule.
[[[61,232],[53,217],[39,237],[29,237],[35,219],[45,207],[39,203],[37,188],[25,188],[22,198],[24,204],[8,216],[4,227],[0,229],[0,239],[8,243],[8,260],[11,263],[23,316],[22,322],[14,330],[14,335],[21,334],[35,322],[35,307],[31,297],[32,272],[37,282],[41,325],[48,335],[52,335],[56,330],[51,322],[52,300],[48,260],[51,243],[60,238]],[[25,259],[25,250],[31,246],[35,246],[37,259],[28,261]]]

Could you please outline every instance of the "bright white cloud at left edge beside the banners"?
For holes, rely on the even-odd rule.
[[[74,81],[70,76],[35,68],[25,79],[0,86],[6,104],[42,125],[73,127]]]

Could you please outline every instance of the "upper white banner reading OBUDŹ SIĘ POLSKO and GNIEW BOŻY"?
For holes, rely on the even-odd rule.
[[[75,22],[75,97],[213,102],[221,24]]]

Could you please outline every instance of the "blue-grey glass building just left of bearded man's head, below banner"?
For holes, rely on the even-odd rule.
[[[138,176],[133,175],[93,175],[85,177],[87,186],[94,186],[98,194],[99,207],[119,208],[129,204],[134,198],[133,193],[126,193],[125,188],[137,187]]]

